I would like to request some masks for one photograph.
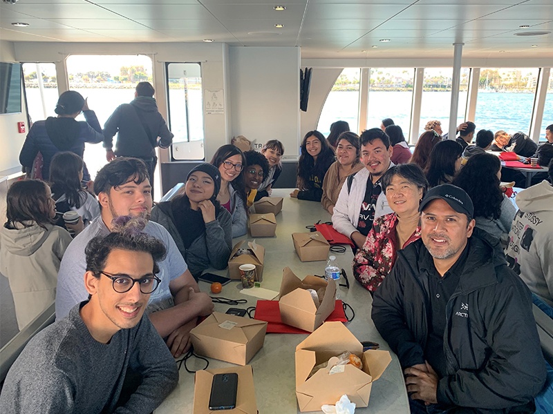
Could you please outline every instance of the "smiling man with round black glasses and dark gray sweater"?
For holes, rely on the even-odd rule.
[[[89,299],[31,339],[6,377],[0,411],[151,413],[178,382],[169,349],[143,317],[165,254],[162,242],[132,227],[94,237],[86,246]],[[123,402],[128,368],[142,382]]]

